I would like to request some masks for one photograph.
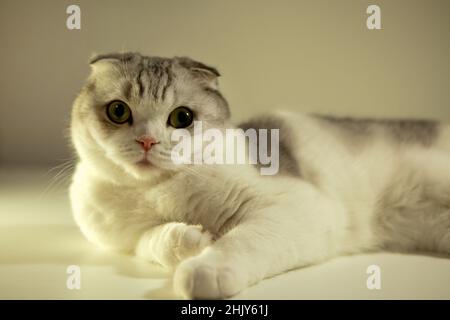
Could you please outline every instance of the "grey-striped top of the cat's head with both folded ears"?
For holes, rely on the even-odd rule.
[[[152,57],[139,53],[110,53],[95,56],[90,62],[90,82],[94,93],[122,97],[165,100],[170,91],[178,93],[217,89],[219,72],[188,57]],[[172,90],[173,89],[173,90]],[[93,91],[93,90],[92,90]]]

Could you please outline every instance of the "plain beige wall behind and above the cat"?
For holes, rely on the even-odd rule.
[[[371,3],[382,30],[366,28]],[[63,132],[93,52],[215,65],[237,120],[274,108],[450,120],[449,13],[448,0],[1,0],[0,163],[70,155]]]

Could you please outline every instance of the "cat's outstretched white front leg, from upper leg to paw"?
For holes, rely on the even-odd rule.
[[[335,255],[336,207],[317,196],[299,200],[298,212],[291,207],[285,214],[285,206],[253,212],[201,254],[183,261],[174,274],[175,291],[185,298],[225,298],[266,277]]]

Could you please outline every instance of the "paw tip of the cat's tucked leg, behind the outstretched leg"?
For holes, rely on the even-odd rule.
[[[162,264],[173,268],[181,261],[199,254],[212,243],[212,235],[201,226],[179,224],[167,236],[167,249]]]

